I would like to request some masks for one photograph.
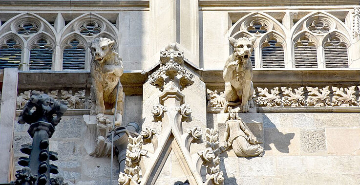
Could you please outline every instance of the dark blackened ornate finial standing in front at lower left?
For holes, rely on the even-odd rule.
[[[32,145],[21,145],[21,152],[29,157],[21,157],[14,185],[66,185],[63,177],[50,179],[50,173],[59,173],[58,167],[49,161],[58,160],[58,153],[49,151],[49,138],[55,132],[61,117],[67,110],[67,103],[56,101],[46,94],[32,92],[30,100],[19,116],[18,123],[27,123],[27,132],[33,138]],[[33,108],[35,108],[34,111]]]

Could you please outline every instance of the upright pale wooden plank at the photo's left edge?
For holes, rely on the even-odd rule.
[[[0,183],[8,183],[14,169],[12,145],[18,91],[18,68],[5,68],[0,111]]]

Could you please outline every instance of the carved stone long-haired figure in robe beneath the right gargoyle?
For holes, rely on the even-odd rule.
[[[235,110],[230,110],[225,123],[224,147],[233,146],[238,157],[262,156],[264,148],[259,143],[242,119],[238,117]]]

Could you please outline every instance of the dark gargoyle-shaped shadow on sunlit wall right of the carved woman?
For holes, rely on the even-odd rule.
[[[290,141],[294,139],[295,133],[282,133],[280,132],[275,124],[263,114],[264,124],[264,149],[266,151],[271,150],[271,144],[274,144],[276,150],[281,153],[289,153]]]

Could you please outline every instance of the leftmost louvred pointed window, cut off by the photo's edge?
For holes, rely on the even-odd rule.
[[[8,39],[0,47],[0,69],[8,67],[19,67],[21,63],[21,47],[15,39]]]

